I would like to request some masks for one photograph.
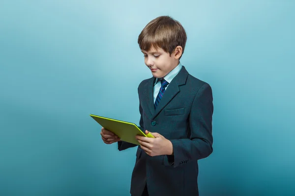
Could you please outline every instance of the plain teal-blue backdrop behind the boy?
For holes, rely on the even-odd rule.
[[[295,1],[0,1],[0,195],[129,195],[135,150],[89,114],[139,123],[137,38],[186,29],[181,63],[213,89],[202,196],[295,194]]]

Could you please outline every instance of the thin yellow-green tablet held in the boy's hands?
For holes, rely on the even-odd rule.
[[[106,117],[96,116],[90,114],[90,116],[99,123],[105,129],[115,133],[118,135],[121,141],[129,142],[132,144],[140,145],[137,139],[135,138],[136,135],[142,135],[145,137],[154,138],[151,133],[147,135],[134,123],[128,123],[125,121],[118,121],[115,119],[110,119]]]

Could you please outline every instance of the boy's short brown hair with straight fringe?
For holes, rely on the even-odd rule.
[[[184,52],[186,39],[185,30],[178,21],[169,16],[160,16],[145,26],[138,36],[138,44],[142,50],[161,48],[171,55],[177,46],[181,46]]]

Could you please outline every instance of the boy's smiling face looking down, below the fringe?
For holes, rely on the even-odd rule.
[[[179,63],[177,49],[170,56],[169,52],[165,52],[163,49],[151,48],[149,51],[142,50],[145,56],[145,64],[150,69],[154,77],[160,78],[167,75]]]

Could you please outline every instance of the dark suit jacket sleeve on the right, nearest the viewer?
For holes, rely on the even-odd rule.
[[[212,151],[213,97],[209,84],[204,84],[192,103],[189,125],[190,138],[171,140],[173,155],[165,155],[165,165],[174,168],[189,161],[206,158]]]

